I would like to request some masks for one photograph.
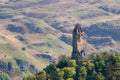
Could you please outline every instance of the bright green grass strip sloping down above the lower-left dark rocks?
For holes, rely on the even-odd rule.
[[[7,57],[4,60],[12,61],[15,66],[16,63],[14,61],[14,58],[28,61],[31,64],[35,65],[38,69],[42,69],[48,64],[47,62],[36,59],[34,56],[22,51],[21,49],[16,48],[15,46],[9,43],[0,44],[0,50],[1,52],[7,54]]]

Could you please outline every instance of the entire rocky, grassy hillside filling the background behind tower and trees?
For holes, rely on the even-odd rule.
[[[70,56],[76,23],[82,24],[90,48],[120,52],[119,4],[119,0],[0,0],[0,70],[13,71],[10,77],[16,72],[25,76],[60,55]]]

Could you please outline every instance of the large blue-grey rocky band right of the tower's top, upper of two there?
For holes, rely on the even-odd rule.
[[[90,36],[108,37],[111,36],[114,40],[120,40],[120,27],[110,23],[98,23],[84,28],[85,33]]]

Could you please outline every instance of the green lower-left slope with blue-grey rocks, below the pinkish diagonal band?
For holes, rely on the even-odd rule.
[[[18,48],[9,43],[0,44],[0,70],[9,75],[10,79],[16,78],[16,76],[20,78],[36,73],[36,70],[43,69],[49,64],[45,60],[42,61],[42,58],[37,59],[28,54],[24,48],[26,47]]]

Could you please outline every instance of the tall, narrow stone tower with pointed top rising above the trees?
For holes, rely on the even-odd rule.
[[[80,24],[76,24],[73,30],[73,52],[72,59],[82,58],[85,56],[85,52],[83,50],[83,42],[82,42],[83,31],[81,29]]]

